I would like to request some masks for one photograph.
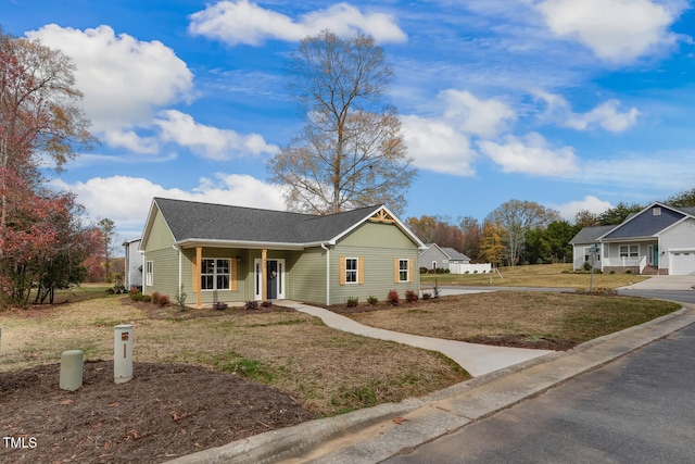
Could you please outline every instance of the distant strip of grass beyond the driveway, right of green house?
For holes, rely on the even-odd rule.
[[[421,274],[424,288],[434,285],[464,285],[483,287],[547,287],[586,289],[590,274],[571,272],[571,264],[540,264],[533,266],[501,267],[496,274]],[[617,288],[635,284],[648,277],[634,274],[594,274],[594,288]]]

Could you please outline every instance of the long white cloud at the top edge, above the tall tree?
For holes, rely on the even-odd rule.
[[[330,29],[339,36],[363,32],[377,42],[403,42],[405,33],[386,13],[363,13],[348,3],[338,3],[292,20],[248,0],[220,1],[190,15],[192,34],[222,40],[230,46],[262,45],[267,39],[299,41]]]

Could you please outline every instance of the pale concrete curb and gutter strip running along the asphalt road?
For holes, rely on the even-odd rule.
[[[170,463],[381,462],[509,407],[695,323],[695,305],[636,327],[554,352],[425,398],[408,399],[268,431]]]

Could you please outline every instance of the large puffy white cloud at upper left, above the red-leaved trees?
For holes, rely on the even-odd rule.
[[[109,26],[83,32],[50,24],[26,35],[73,60],[94,133],[147,126],[154,109],[192,98],[193,74],[157,40],[116,36]],[[132,138],[122,141],[134,143]]]

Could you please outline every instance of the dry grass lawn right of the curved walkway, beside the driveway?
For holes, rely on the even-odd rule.
[[[443,297],[351,317],[374,327],[452,340],[504,334],[583,342],[678,309],[675,303],[641,298],[495,291]]]

